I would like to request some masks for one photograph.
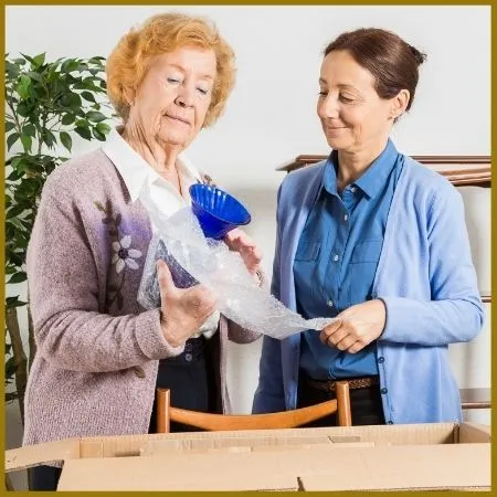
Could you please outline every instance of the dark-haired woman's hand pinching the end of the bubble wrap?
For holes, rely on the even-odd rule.
[[[340,313],[336,321],[322,329],[319,339],[329,347],[356,353],[383,332],[385,319],[383,300],[368,300]]]

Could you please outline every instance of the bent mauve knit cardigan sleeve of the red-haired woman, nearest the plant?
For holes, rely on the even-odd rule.
[[[176,356],[163,338],[159,309],[138,315],[99,313],[97,265],[70,171],[45,182],[28,248],[28,283],[38,352],[55,366],[103,372]],[[102,284],[102,282],[101,282]]]

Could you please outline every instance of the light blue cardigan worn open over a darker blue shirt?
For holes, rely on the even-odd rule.
[[[272,293],[296,310],[294,257],[325,163],[288,175],[278,191]],[[378,367],[387,423],[462,420],[448,343],[483,326],[464,204],[441,175],[405,156],[372,288],[387,306]],[[253,412],[295,409],[300,335],[264,337]]]

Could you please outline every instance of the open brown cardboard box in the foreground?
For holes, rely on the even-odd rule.
[[[59,490],[490,489],[490,429],[436,423],[71,438],[6,452],[63,461]]]

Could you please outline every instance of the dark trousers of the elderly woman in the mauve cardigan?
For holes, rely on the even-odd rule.
[[[218,334],[219,335],[219,334]],[[159,361],[157,387],[171,390],[171,405],[201,412],[221,412],[216,381],[215,341],[219,336],[205,340],[202,336],[187,340],[184,351],[173,358]],[[157,403],[150,416],[148,433],[157,433]],[[193,426],[171,423],[171,432],[199,431]],[[30,490],[56,490],[62,469],[36,466],[30,470]]]

